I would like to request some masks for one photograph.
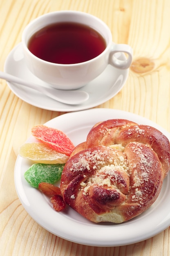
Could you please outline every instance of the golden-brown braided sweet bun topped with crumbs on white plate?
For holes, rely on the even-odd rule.
[[[121,223],[157,199],[170,170],[170,142],[159,130],[124,119],[96,124],[65,164],[65,202],[93,222]]]

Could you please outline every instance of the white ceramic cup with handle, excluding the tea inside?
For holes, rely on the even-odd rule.
[[[43,27],[57,22],[78,22],[92,27],[105,39],[105,50],[89,61],[75,64],[52,63],[36,57],[28,49],[31,36]],[[118,69],[128,69],[132,62],[132,48],[129,45],[113,43],[111,31],[102,20],[80,11],[55,11],[39,16],[25,27],[22,33],[22,47],[29,70],[39,79],[61,90],[83,87],[100,75],[108,64]],[[118,52],[126,53],[128,57],[123,60],[116,58]]]

